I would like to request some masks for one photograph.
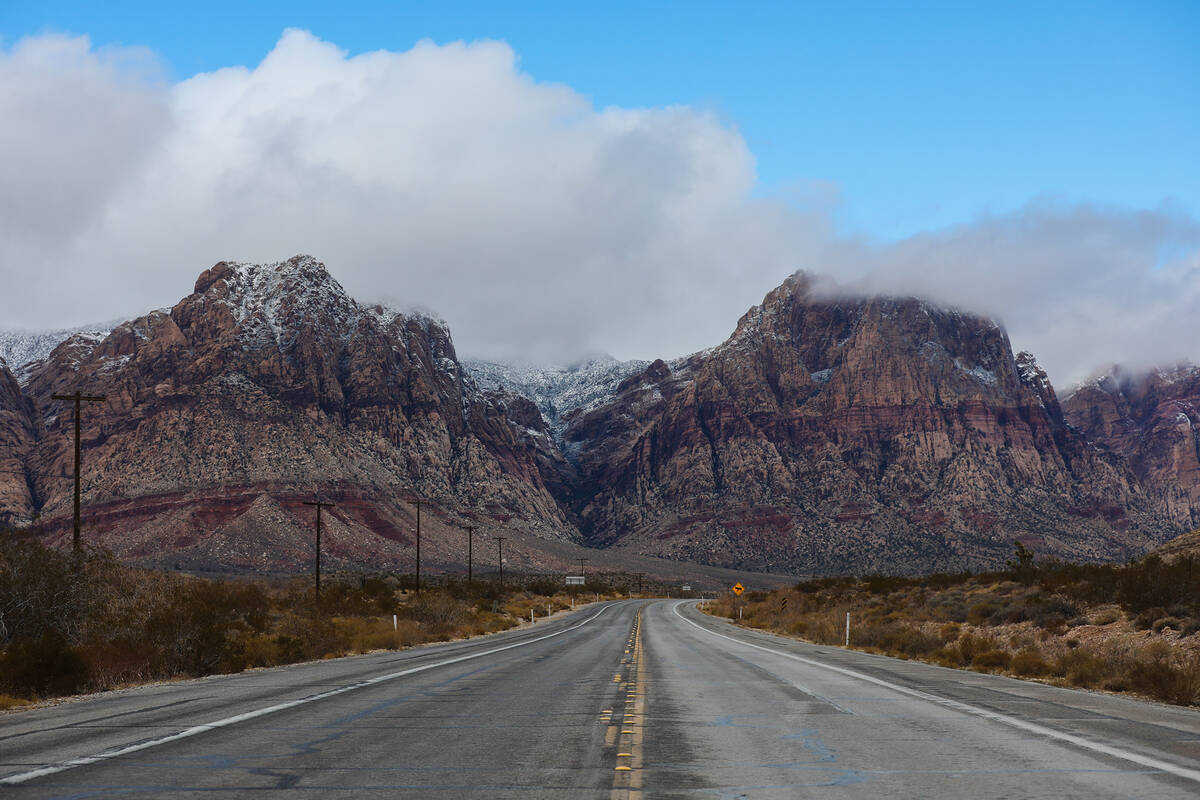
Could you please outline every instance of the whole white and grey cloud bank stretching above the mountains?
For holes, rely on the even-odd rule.
[[[713,114],[596,109],[502,42],[350,58],[289,30],[253,68],[168,85],[145,53],[43,36],[0,52],[0,113],[20,120],[0,126],[0,327],[142,313],[217,260],[306,252],[491,357],[709,347],[797,269],[998,315],[1060,383],[1200,357],[1200,225],[1180,212],[1033,203],[839,236],[754,197]]]

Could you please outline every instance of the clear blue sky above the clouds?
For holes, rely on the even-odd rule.
[[[253,66],[284,28],[352,55],[497,38],[598,107],[710,109],[756,192],[896,239],[1050,197],[1200,212],[1200,4],[5,2],[145,46],[173,80]]]

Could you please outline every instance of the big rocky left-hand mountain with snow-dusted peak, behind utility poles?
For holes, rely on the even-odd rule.
[[[524,427],[464,377],[444,324],[359,306],[310,257],[220,263],[175,307],[31,366],[44,433],[25,463],[59,530],[70,482],[48,476],[71,471],[71,415],[50,396],[76,387],[108,397],[84,411],[91,529],[132,560],[294,567],[318,494],[338,504],[332,566],[410,561],[414,499],[427,530],[516,518],[575,536]]]

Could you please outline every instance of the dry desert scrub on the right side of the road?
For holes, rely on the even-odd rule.
[[[740,620],[739,620],[740,607]],[[1200,559],[1034,563],[920,578],[805,581],[725,596],[709,613],[820,644],[1062,686],[1200,704]]]

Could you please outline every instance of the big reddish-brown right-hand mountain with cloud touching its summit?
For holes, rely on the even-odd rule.
[[[1004,331],[797,275],[712,351],[655,361],[569,419],[584,534],[638,553],[800,572],[1121,558],[1158,534],[1120,458],[1063,420]]]

